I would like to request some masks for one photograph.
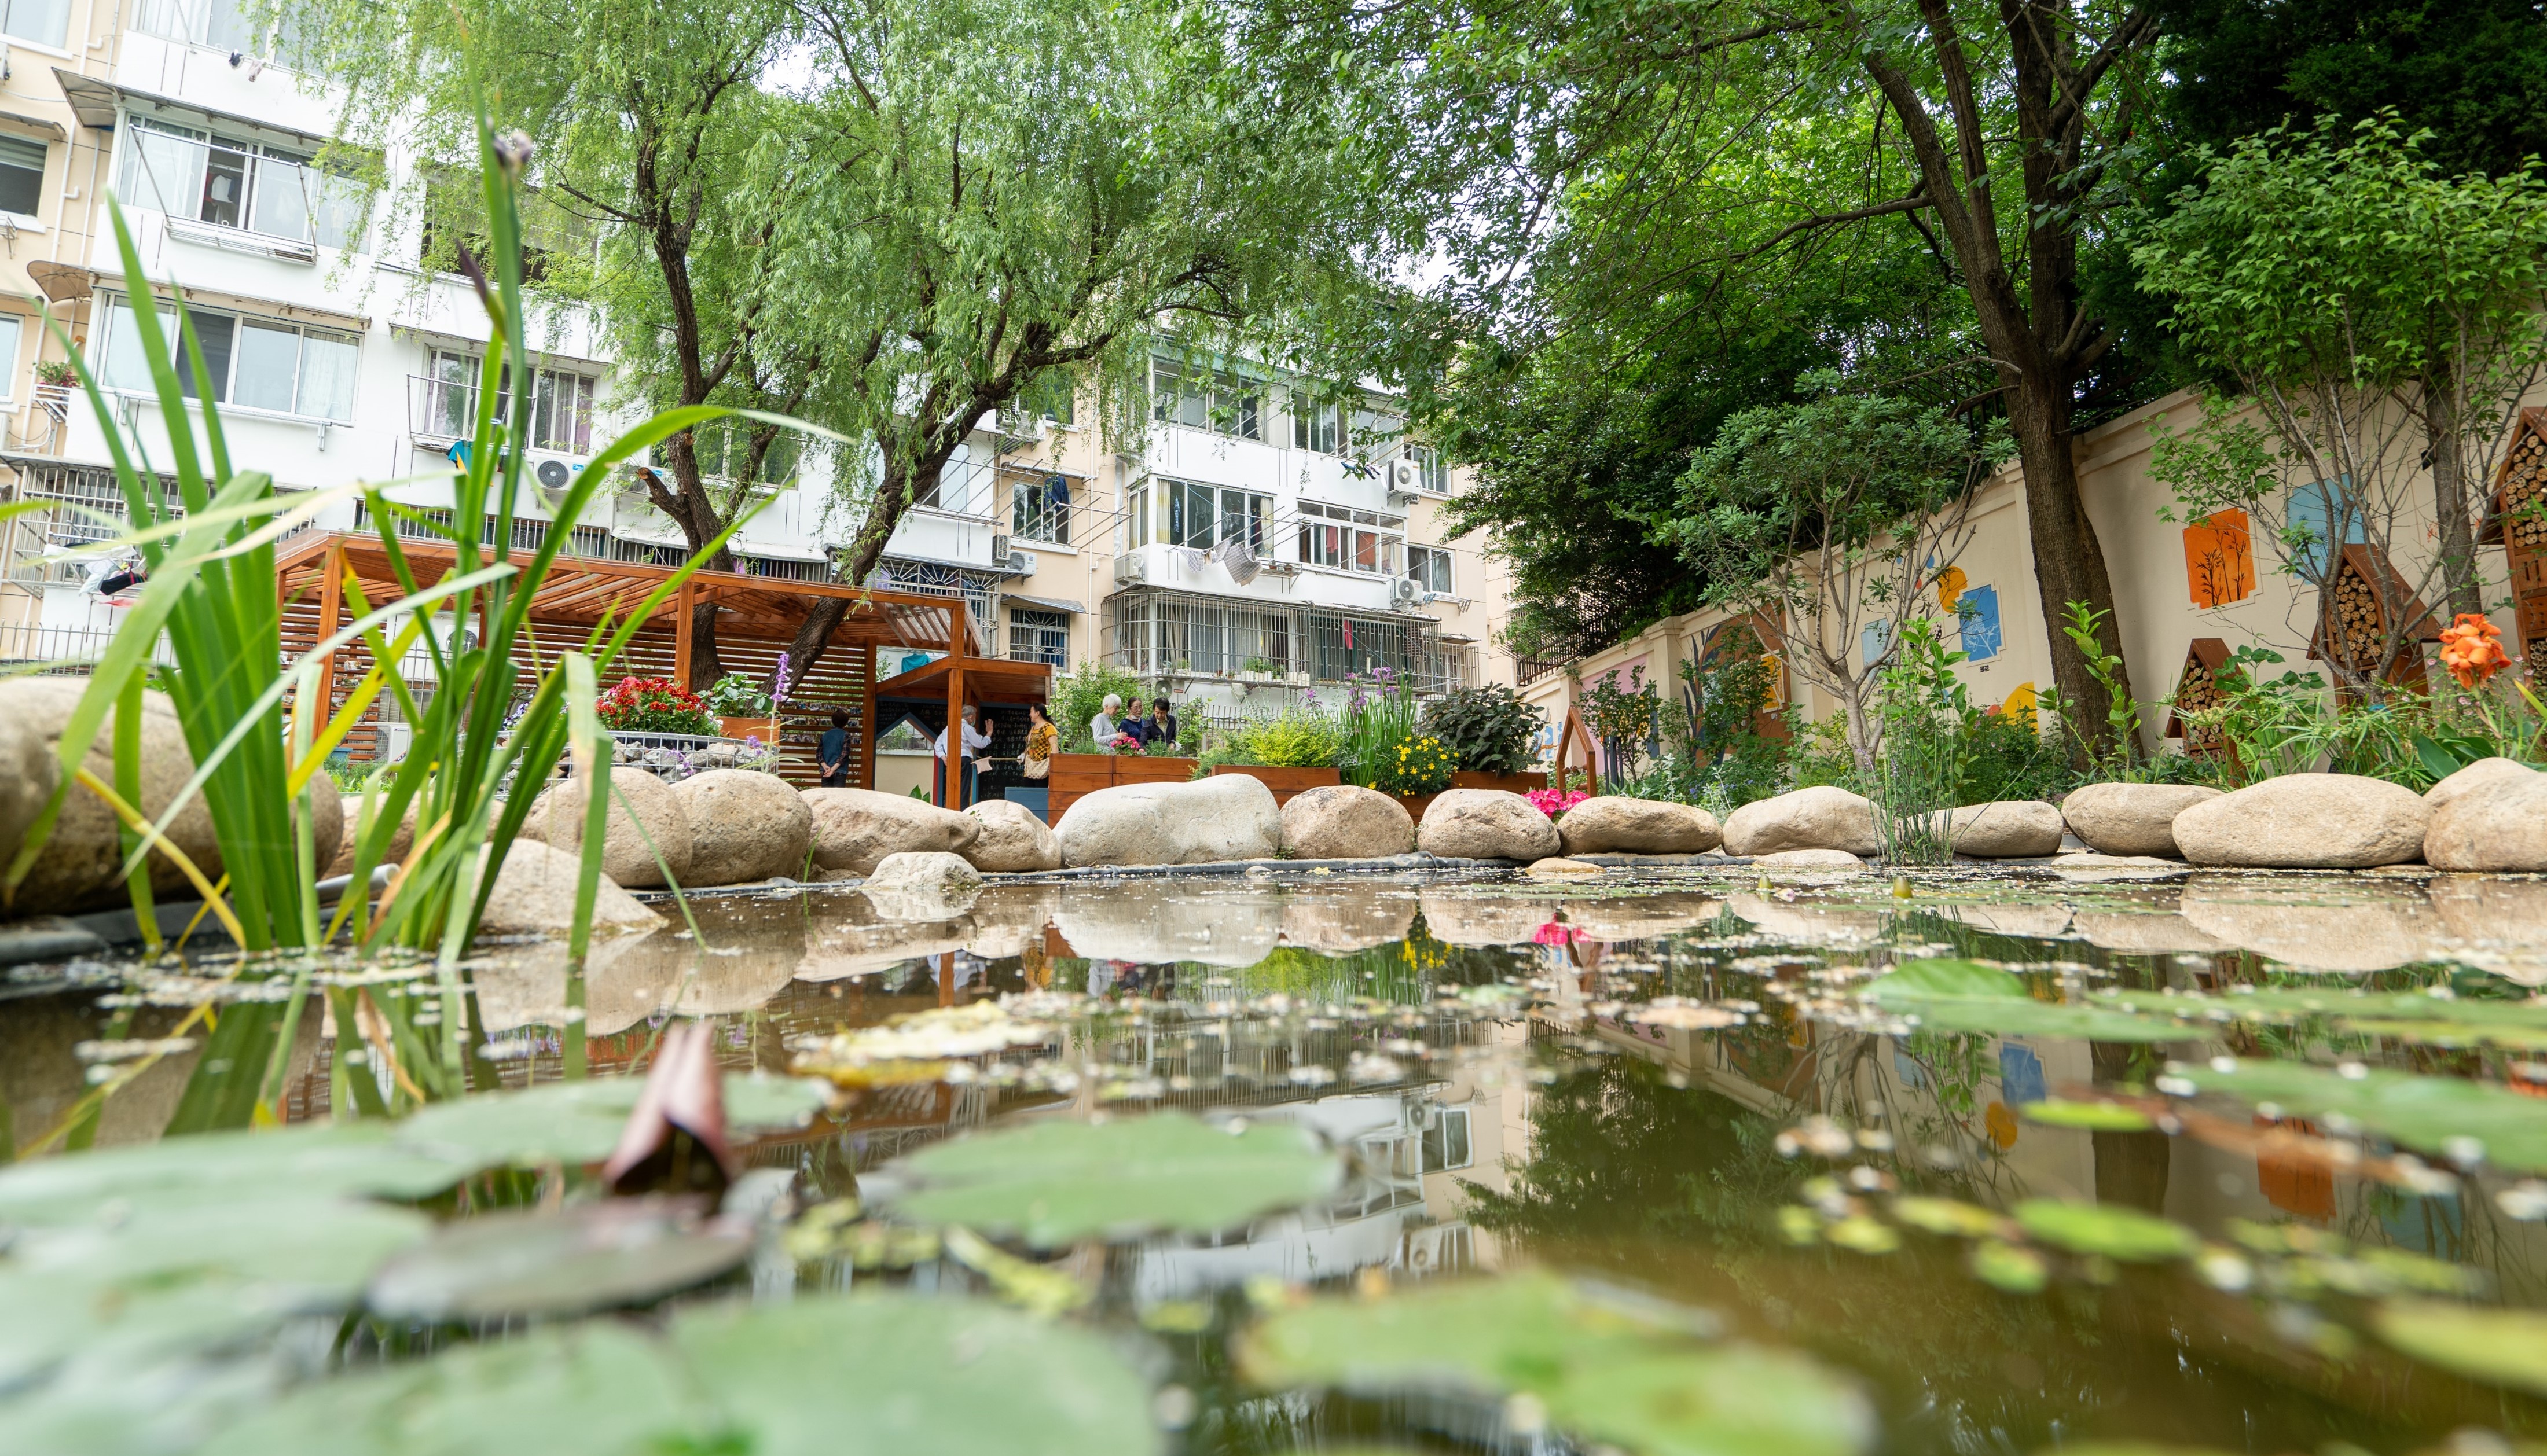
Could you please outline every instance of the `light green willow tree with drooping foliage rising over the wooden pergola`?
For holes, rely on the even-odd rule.
[[[430,158],[484,87],[535,137],[543,196],[599,237],[543,288],[599,308],[624,392],[856,440],[823,471],[843,580],[1001,405],[1085,387],[1131,430],[1161,328],[1245,336],[1352,280],[1322,112],[1172,0],[313,3],[349,130]],[[647,494],[698,550],[787,451],[680,438]],[[848,611],[810,606],[797,672]],[[713,608],[693,641],[708,680]]]

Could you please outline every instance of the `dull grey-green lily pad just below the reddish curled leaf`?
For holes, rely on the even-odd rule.
[[[609,1199],[461,1219],[380,1265],[364,1306],[428,1324],[560,1319],[652,1303],[751,1257],[751,1229],[695,1199]]]

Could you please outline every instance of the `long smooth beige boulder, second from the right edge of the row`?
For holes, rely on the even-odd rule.
[[[2420,860],[2430,825],[2404,784],[2282,774],[2175,815],[2175,848],[2196,865],[2366,871]]]

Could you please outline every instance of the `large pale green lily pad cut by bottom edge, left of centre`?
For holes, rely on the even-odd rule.
[[[1103,1336],[986,1301],[703,1306],[672,1321],[672,1347],[751,1456],[1159,1448],[1149,1385]]]

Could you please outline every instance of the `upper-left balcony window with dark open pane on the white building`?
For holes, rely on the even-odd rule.
[[[173,219],[362,247],[369,188],[308,155],[132,117],[122,193]]]

